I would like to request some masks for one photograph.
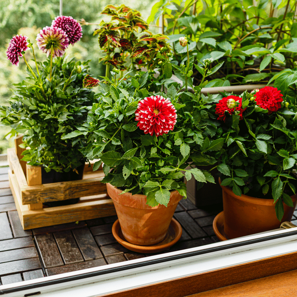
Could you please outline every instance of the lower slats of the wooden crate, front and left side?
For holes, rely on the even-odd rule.
[[[82,201],[76,204],[29,210],[28,205],[22,204],[20,193],[17,191],[18,181],[15,174],[11,171],[9,171],[9,182],[24,230],[116,214],[112,200],[102,199],[100,197],[102,195],[98,195],[97,200],[94,200],[94,196],[91,196],[90,201],[88,201],[87,197],[84,197]]]

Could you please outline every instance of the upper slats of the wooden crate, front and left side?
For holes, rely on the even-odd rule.
[[[14,149],[7,150],[7,159],[16,176],[15,191],[19,192],[22,204],[37,204],[106,193],[106,185],[100,183],[104,177],[103,171],[87,171],[82,180],[28,186]]]

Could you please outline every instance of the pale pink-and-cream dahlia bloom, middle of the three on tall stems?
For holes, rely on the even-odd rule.
[[[65,31],[61,28],[46,26],[37,34],[37,46],[48,57],[53,46],[54,57],[62,57],[69,45],[69,39]]]

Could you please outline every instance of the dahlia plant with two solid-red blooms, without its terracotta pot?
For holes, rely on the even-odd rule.
[[[221,185],[239,196],[273,198],[281,220],[282,201],[293,206],[290,196],[296,193],[296,96],[266,86],[223,97],[210,113],[215,138],[223,143],[213,154],[220,163]]]

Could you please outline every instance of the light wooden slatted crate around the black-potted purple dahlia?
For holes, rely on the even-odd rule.
[[[19,140],[7,149],[9,184],[24,230],[115,215],[114,204],[100,183],[102,170],[86,164],[82,180],[41,184],[41,168],[20,162]],[[45,207],[43,202],[80,198],[76,204]]]

